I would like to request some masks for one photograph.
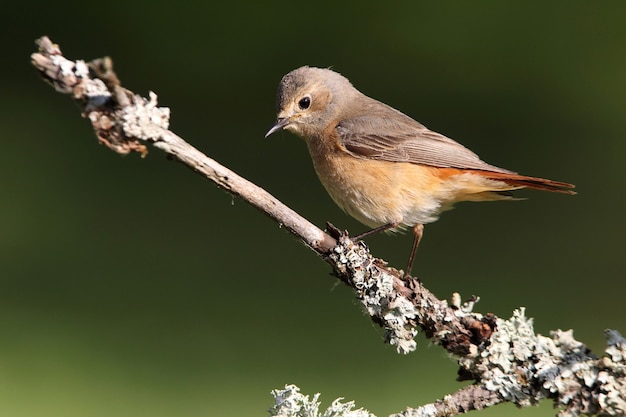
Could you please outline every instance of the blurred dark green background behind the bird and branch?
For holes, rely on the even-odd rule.
[[[596,353],[623,314],[626,4],[229,1],[0,6],[0,415],[266,415],[286,383],[384,416],[462,386],[423,336],[399,356],[351,292],[285,230],[158,150],[97,144],[30,65],[110,55],[171,127],[323,227],[364,226],[318,183],[304,143],[269,139],[274,94],[301,65],[527,175],[578,195],[465,203],[426,228],[414,272],[479,295]],[[368,238],[404,267],[412,237]],[[479,413],[476,413],[479,415]],[[552,416],[551,403],[484,416]]]

